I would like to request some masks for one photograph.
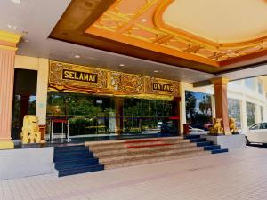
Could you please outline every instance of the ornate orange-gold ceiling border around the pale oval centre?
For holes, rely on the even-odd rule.
[[[162,16],[173,1],[139,0],[131,4],[130,0],[117,0],[85,32],[214,67],[224,60],[267,50],[267,36],[219,44],[167,25]]]

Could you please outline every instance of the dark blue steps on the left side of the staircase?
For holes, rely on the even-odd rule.
[[[53,162],[59,177],[104,170],[104,165],[85,145],[55,147]]]

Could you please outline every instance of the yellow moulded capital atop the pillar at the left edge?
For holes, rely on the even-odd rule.
[[[17,44],[20,42],[20,34],[0,30],[0,49],[17,51]]]

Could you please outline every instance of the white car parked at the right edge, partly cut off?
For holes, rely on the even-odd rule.
[[[267,145],[267,123],[253,124],[245,132],[247,144],[250,142],[263,143]]]

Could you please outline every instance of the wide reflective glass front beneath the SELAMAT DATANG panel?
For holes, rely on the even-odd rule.
[[[179,132],[177,101],[49,92],[47,105],[47,122],[69,119],[70,136]],[[61,125],[53,127],[61,132]]]

